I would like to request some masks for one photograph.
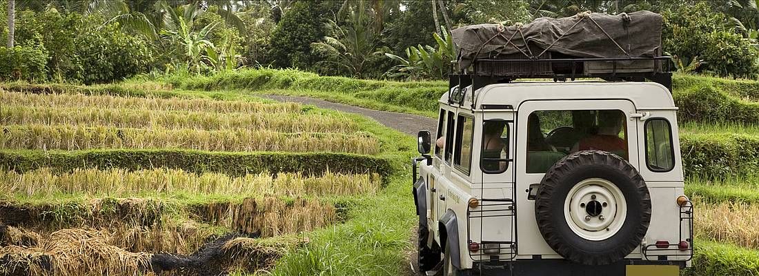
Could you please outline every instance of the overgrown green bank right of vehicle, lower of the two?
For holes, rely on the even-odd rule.
[[[759,172],[759,137],[746,134],[683,134],[682,165],[687,176],[720,178]]]

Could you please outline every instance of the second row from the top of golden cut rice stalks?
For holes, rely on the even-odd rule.
[[[354,133],[358,124],[339,116],[291,113],[149,111],[108,108],[0,108],[0,124],[69,124],[83,127],[198,130],[272,130],[286,133]]]

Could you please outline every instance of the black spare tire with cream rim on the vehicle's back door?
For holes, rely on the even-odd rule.
[[[640,246],[651,219],[651,199],[629,162],[588,150],[549,169],[537,190],[535,218],[543,239],[565,259],[608,265]]]

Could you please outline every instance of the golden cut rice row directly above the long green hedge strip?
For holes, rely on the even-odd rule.
[[[197,149],[222,152],[349,152],[374,155],[368,133],[279,133],[271,130],[163,130],[118,127],[11,125],[0,149]]]

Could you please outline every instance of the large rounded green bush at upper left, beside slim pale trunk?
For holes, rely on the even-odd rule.
[[[102,18],[54,9],[17,14],[18,45],[47,49],[49,79],[71,83],[108,83],[146,72],[152,60],[147,43],[101,27]]]

